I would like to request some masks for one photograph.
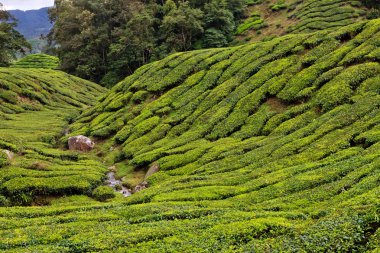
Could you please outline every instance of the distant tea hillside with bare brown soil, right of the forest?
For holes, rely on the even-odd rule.
[[[248,18],[238,27],[240,39],[257,41],[268,36],[337,29],[373,18],[371,1],[247,0]]]

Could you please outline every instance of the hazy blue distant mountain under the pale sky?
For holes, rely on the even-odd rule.
[[[48,8],[29,11],[11,10],[9,12],[18,20],[16,29],[26,39],[39,38],[41,34],[46,35],[53,26],[49,20]]]

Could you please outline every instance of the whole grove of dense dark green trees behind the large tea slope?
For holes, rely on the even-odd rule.
[[[112,86],[169,53],[226,46],[243,0],[56,0],[51,10],[62,69]]]

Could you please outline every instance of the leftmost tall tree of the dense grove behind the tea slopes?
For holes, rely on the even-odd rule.
[[[92,81],[106,73],[109,45],[101,0],[56,0],[51,11],[55,25],[49,35],[58,44],[61,68]]]

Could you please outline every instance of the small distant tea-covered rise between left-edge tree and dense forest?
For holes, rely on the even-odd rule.
[[[59,59],[47,54],[31,54],[16,61],[12,68],[43,68],[58,69]]]

